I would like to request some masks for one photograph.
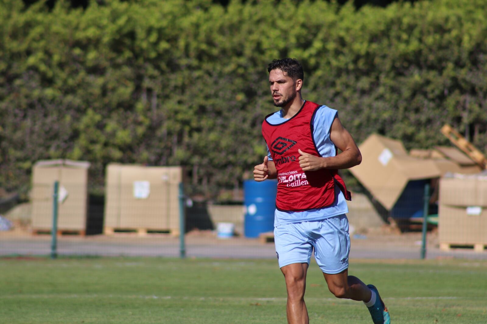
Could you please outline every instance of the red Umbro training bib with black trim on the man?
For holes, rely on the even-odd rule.
[[[313,141],[311,121],[320,106],[305,101],[300,111],[290,119],[277,125],[262,123],[262,136],[276,165],[278,190],[276,207],[281,211],[305,211],[324,208],[335,202],[335,184],[345,199],[352,200],[345,182],[334,169],[303,171],[299,157],[301,151],[321,156]]]

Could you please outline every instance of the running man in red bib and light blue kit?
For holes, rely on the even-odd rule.
[[[275,59],[267,71],[274,106],[281,110],[262,123],[268,154],[255,166],[254,180],[279,180],[274,240],[286,281],[287,321],[309,323],[304,290],[314,249],[330,291],[337,298],[363,301],[375,324],[389,324],[377,288],[348,275],[350,235],[345,214],[351,197],[337,169],[359,164],[360,151],[337,110],[302,99],[304,75],[296,59]]]

